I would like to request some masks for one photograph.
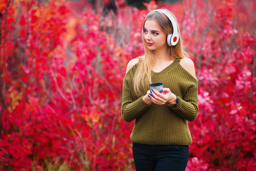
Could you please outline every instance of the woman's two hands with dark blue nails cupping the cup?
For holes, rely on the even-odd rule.
[[[159,105],[163,105],[166,102],[173,103],[176,101],[176,95],[174,95],[169,88],[162,88],[160,91],[153,89],[149,95],[151,96],[153,103]]]

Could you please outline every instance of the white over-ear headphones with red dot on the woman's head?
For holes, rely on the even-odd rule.
[[[180,36],[178,36],[178,27],[177,27],[175,19],[173,18],[173,16],[170,13],[168,13],[165,10],[158,9],[158,10],[153,10],[153,11],[159,11],[162,14],[166,15],[166,17],[169,18],[169,21],[172,23],[172,26],[173,26],[173,33],[167,35],[166,41],[169,46],[175,46],[178,43],[178,40],[180,39]],[[153,11],[149,12],[148,14],[152,13]]]

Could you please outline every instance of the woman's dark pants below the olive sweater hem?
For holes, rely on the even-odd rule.
[[[136,171],[185,170],[188,145],[147,145],[132,143]]]

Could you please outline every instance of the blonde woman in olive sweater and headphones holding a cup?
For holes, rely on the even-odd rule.
[[[143,23],[144,56],[132,59],[124,77],[122,117],[135,120],[131,140],[136,170],[185,170],[192,137],[188,121],[198,115],[198,80],[185,58],[180,29],[165,9]],[[160,91],[149,84],[164,83]]]

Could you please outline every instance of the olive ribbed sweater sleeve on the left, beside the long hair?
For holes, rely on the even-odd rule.
[[[124,121],[127,123],[136,119],[146,111],[151,105],[145,103],[143,96],[139,97],[137,100],[133,100],[131,87],[129,87],[128,79],[125,76],[123,84],[123,95],[122,95],[122,108],[121,113]]]

